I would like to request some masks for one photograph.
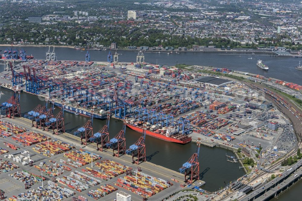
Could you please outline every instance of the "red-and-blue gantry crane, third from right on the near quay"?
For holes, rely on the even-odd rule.
[[[126,123],[124,121],[123,129],[120,130],[120,132],[117,133],[117,135],[110,139],[109,142],[107,142],[106,146],[108,148],[112,148],[113,155],[120,157],[120,154],[126,153],[126,138],[125,138],[125,132],[126,132]],[[117,150],[116,153],[114,153],[114,150]]]

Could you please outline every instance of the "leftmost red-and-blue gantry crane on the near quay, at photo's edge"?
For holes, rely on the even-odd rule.
[[[14,95],[12,95],[6,102],[2,103],[0,107],[1,110],[5,110],[6,116],[12,119],[21,117],[19,85],[14,86],[13,90]]]

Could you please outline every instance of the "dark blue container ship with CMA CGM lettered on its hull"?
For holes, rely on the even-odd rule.
[[[54,102],[54,105],[56,107],[62,108],[62,104],[58,103],[58,102]],[[67,111],[69,113],[72,114],[79,114],[82,116],[87,116],[87,117],[91,117],[91,112],[88,112],[88,110],[85,109],[79,109],[76,107],[72,107],[69,105],[64,105],[64,111]],[[93,113],[93,118],[95,119],[101,119],[101,120],[105,120],[107,119],[107,114],[105,110],[100,110],[99,113]]]

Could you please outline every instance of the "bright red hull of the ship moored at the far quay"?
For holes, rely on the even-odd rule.
[[[143,133],[143,126],[135,126],[129,123],[126,123],[126,126],[132,130]],[[155,131],[146,130],[146,135],[178,144],[187,144],[192,141],[191,136],[179,134],[178,132],[171,132],[171,134],[168,135],[167,133],[160,132],[162,130],[164,130],[164,128]]]

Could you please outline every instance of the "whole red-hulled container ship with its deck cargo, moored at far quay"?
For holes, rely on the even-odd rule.
[[[145,125],[147,128],[146,135],[148,136],[179,144],[187,144],[188,142],[192,141],[191,136],[180,134],[175,126],[162,127],[160,129],[159,125]],[[143,133],[144,126],[142,125],[142,122],[126,121],[126,126],[132,130]]]

